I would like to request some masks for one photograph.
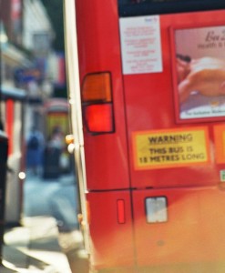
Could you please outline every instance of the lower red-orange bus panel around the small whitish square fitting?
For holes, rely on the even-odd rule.
[[[168,197],[169,219],[149,224],[146,197]],[[138,266],[224,260],[224,192],[217,187],[167,188],[134,193]],[[177,272],[177,271],[174,271]],[[194,272],[194,271],[192,271]],[[208,272],[208,271],[204,271]]]

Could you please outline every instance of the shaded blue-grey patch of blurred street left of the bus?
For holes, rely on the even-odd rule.
[[[77,228],[77,182],[73,174],[53,179],[27,175],[24,186],[24,216],[55,217],[64,231]]]

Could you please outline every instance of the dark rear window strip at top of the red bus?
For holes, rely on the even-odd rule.
[[[224,9],[224,0],[118,0],[120,17]]]

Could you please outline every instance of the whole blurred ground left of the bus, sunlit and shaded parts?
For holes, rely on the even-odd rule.
[[[76,210],[76,203],[70,200],[72,197],[73,201],[74,196],[68,195],[71,187],[74,188],[71,181],[74,177],[63,177],[57,181],[43,181],[36,177],[26,179],[24,217],[21,226],[5,227],[0,273],[89,272],[77,218],[70,217]],[[39,195],[34,198],[37,188]],[[62,188],[64,190],[60,190]]]

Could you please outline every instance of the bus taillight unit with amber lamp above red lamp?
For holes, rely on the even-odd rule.
[[[81,92],[87,131],[92,134],[115,132],[110,73],[88,74]]]

